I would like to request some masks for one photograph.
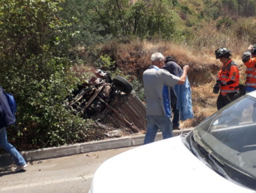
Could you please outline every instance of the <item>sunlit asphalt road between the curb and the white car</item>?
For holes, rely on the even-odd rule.
[[[26,171],[15,165],[0,167],[0,193],[88,193],[93,174],[107,159],[130,150],[122,148],[28,163]]]

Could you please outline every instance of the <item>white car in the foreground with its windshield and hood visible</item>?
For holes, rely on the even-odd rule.
[[[256,91],[205,119],[189,134],[129,150],[105,161],[90,193],[256,190]]]

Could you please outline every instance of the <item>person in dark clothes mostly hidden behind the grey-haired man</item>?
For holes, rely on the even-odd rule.
[[[181,66],[179,66],[173,57],[165,57],[165,65],[163,66],[164,70],[167,70],[171,74],[175,75],[176,77],[179,77],[182,70]],[[177,97],[174,92],[174,89],[171,88],[171,108],[172,112],[174,113],[173,119],[172,119],[172,124],[173,124],[173,130],[180,130],[179,128],[179,121],[180,121],[180,113],[179,110],[176,109],[176,102],[177,102]]]

